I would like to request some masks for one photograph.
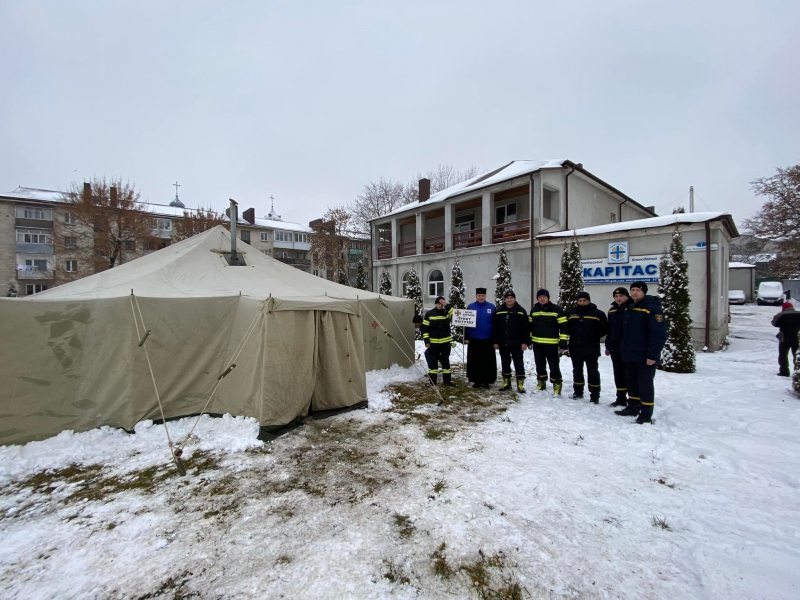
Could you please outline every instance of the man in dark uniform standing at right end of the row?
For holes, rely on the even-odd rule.
[[[628,381],[628,406],[615,411],[623,417],[638,415],[636,423],[650,423],[655,404],[653,379],[667,342],[667,323],[658,296],[647,296],[647,284],[631,284],[630,304],[623,315],[622,360]]]

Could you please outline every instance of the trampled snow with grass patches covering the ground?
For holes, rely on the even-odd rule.
[[[2,447],[0,596],[798,598],[800,400],[777,309],[732,310],[727,351],[656,375],[653,426],[614,415],[605,358],[601,404],[570,400],[565,358],[563,397],[481,392],[493,416],[440,430],[384,391],[421,365],[269,443],[204,417],[185,478],[150,423]]]

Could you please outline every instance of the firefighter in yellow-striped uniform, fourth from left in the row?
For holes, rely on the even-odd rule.
[[[547,389],[547,366],[550,365],[550,381],[553,393],[561,395],[563,380],[558,361],[567,349],[567,316],[564,309],[550,302],[550,292],[536,292],[538,302],[533,305],[528,320],[531,323],[531,345],[533,358],[536,361],[536,390]]]

